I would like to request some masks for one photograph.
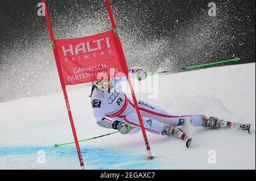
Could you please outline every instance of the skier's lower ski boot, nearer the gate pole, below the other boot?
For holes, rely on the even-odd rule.
[[[189,138],[188,135],[184,133],[184,131],[182,131],[182,129],[177,127],[171,127],[169,124],[164,124],[162,135],[166,135],[168,137],[174,136],[185,141],[187,148],[189,148],[192,141],[192,138]]]

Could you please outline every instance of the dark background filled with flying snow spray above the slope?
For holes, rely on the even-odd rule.
[[[0,102],[60,90],[40,1],[0,1]],[[56,39],[109,30],[103,0],[47,1]],[[217,15],[208,15],[208,3]],[[255,62],[255,1],[111,1],[129,66],[183,71],[241,57]],[[224,64],[218,65],[222,66]],[[51,79],[49,82],[48,80]]]

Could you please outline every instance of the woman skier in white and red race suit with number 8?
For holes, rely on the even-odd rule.
[[[141,68],[129,69],[131,78],[136,77],[139,81],[146,79],[147,73]],[[101,79],[92,82],[92,108],[94,117],[100,127],[118,129],[122,134],[134,134],[141,130],[139,119],[134,107],[133,99],[128,98],[121,89],[121,82],[126,77]],[[204,115],[176,116],[162,108],[150,103],[138,100],[139,110],[142,115],[144,128],[153,134],[174,136],[185,140],[187,134],[177,128],[185,121],[191,121],[195,127],[226,128],[228,122],[217,117]]]

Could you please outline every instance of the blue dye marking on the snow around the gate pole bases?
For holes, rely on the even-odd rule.
[[[35,167],[38,163],[34,158],[37,158],[38,151],[44,150],[46,152],[46,166],[43,169],[76,169],[78,163],[77,151],[74,147],[63,146],[61,148],[54,148],[51,146],[14,146],[10,148],[0,148],[0,162],[2,158],[8,157],[11,161],[15,155],[23,155],[31,157],[28,162],[33,161]],[[84,157],[85,165],[91,169],[157,169],[160,164],[156,160],[146,161],[145,155],[137,155],[129,153],[125,150],[99,148],[93,146],[81,147],[82,155]],[[16,159],[16,158],[15,158]],[[8,163],[7,163],[8,164]],[[22,164],[22,163],[20,163]],[[27,163],[26,163],[27,164]]]

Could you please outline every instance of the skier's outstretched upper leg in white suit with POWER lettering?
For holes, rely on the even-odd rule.
[[[128,100],[130,105],[134,107],[133,100]],[[192,125],[195,127],[201,127],[203,124],[203,120],[201,119],[200,115],[177,116],[163,110],[162,108],[154,106],[150,103],[143,102],[141,100],[138,100],[138,105],[143,117],[149,117],[159,121],[160,123],[170,124],[172,127],[183,125],[185,121],[191,121]]]

